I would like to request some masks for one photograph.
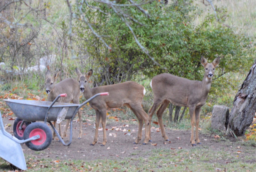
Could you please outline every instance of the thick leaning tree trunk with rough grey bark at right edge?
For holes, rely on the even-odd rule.
[[[243,136],[252,124],[256,112],[256,60],[251,67],[244,83],[236,94],[233,107],[229,114],[228,130],[232,136]]]

